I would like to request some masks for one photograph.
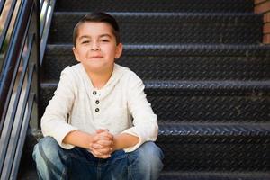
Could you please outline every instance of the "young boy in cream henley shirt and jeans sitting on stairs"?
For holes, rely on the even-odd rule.
[[[157,115],[121,57],[119,26],[87,14],[73,33],[77,65],[65,68],[41,119],[33,158],[40,179],[157,179],[163,153]]]

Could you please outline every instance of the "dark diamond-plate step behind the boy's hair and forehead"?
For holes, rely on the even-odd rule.
[[[55,13],[49,43],[71,43],[86,13]],[[260,14],[110,13],[124,43],[259,43]]]

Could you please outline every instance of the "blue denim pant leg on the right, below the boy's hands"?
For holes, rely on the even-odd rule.
[[[162,168],[163,152],[154,142],[148,141],[133,152],[116,151],[109,159],[103,179],[157,180]]]

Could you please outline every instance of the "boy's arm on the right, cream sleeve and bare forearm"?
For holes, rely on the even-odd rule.
[[[157,139],[158,125],[157,115],[153,112],[151,104],[148,103],[144,93],[142,80],[136,74],[132,74],[128,85],[128,109],[133,117],[133,127],[124,130],[119,135],[121,147],[125,147],[126,152],[133,151],[146,141],[155,141]],[[127,137],[128,134],[129,136]],[[137,140],[131,140],[135,139]],[[117,139],[116,139],[117,142]]]

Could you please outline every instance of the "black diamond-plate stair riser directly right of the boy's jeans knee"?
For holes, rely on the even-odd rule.
[[[269,171],[269,137],[159,136],[164,170]]]

